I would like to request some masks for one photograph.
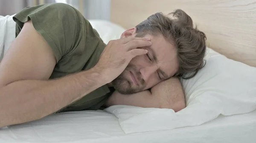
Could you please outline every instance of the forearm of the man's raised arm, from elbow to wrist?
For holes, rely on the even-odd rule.
[[[43,118],[101,87],[105,80],[87,70],[49,81],[15,81],[0,89],[0,127]]]

